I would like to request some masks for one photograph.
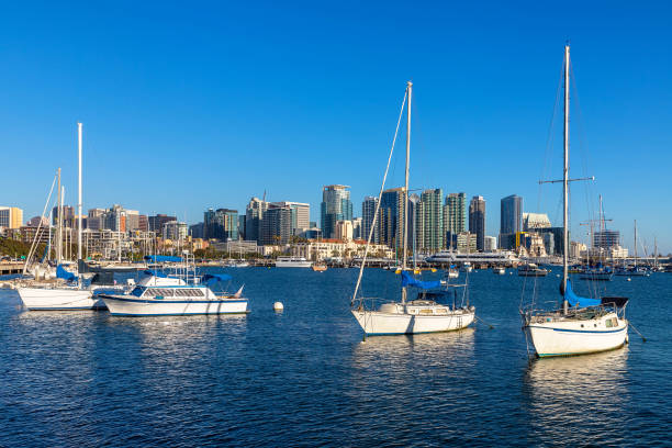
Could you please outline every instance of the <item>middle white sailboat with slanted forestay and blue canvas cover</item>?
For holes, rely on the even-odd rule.
[[[355,292],[350,301],[351,312],[361,328],[367,336],[374,335],[403,335],[403,334],[418,334],[418,333],[436,333],[436,332],[449,332],[455,329],[464,328],[470,325],[475,317],[474,306],[460,306],[457,304],[457,300],[453,300],[452,305],[445,305],[438,303],[437,300],[446,300],[450,298],[450,292],[455,292],[453,296],[457,299],[457,290],[451,291],[450,285],[441,288],[440,281],[422,281],[413,277],[408,269],[408,165],[411,159],[411,100],[413,94],[413,83],[407,82],[406,92],[404,96],[404,102],[407,100],[406,111],[406,170],[405,170],[405,186],[404,186],[404,220],[403,220],[403,255],[402,255],[402,268],[401,268],[401,301],[383,303],[378,310],[367,310],[365,307],[365,298],[358,298],[357,293],[361,284],[361,277],[363,268],[367,262],[367,255],[371,237],[373,235],[373,226],[369,233],[367,246],[365,249],[365,256],[359,268],[359,276],[355,285]],[[403,103],[402,111],[403,114]],[[396,130],[399,132],[399,124]],[[396,133],[394,135],[396,141]],[[390,160],[392,159],[392,153],[394,150],[394,143],[390,149],[390,156],[388,158],[388,167],[383,176],[382,186],[380,189],[378,204],[376,205],[376,212],[373,214],[373,222],[378,219],[380,211],[382,192],[385,186],[385,179],[390,168]],[[455,285],[464,287],[466,296],[466,284]],[[414,300],[408,300],[410,288],[417,290],[417,296]],[[463,300],[462,300],[463,302]]]

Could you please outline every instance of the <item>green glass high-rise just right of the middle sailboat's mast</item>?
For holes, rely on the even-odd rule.
[[[418,250],[438,251],[444,247],[444,192],[440,188],[425,190],[415,204],[415,238]]]

